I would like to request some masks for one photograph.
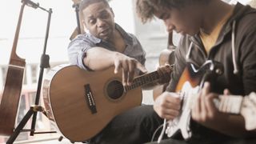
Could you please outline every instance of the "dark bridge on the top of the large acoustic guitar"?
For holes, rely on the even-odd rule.
[[[86,84],[84,87],[86,91],[85,98],[86,98],[87,106],[89,107],[91,114],[95,114],[97,113],[97,108],[94,102],[94,96],[90,90],[90,84]]]

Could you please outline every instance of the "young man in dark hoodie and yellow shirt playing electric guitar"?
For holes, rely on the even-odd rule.
[[[241,115],[219,112],[214,98],[204,92],[204,86],[199,90],[188,88],[187,92],[187,87],[196,85],[186,81],[193,80],[191,73],[197,73],[207,61],[216,61],[222,64],[223,70],[210,84],[212,92],[223,94],[223,90],[228,89],[230,94],[248,95],[256,91],[256,10],[221,0],[137,0],[137,12],[142,22],[157,17],[165,23],[167,31],[182,34],[175,50],[168,92],[161,94],[154,103],[158,115],[172,125],[179,118],[179,126],[190,126],[182,128],[182,136],[189,143],[226,143],[236,138],[255,138],[255,131],[246,130]],[[192,68],[186,74],[188,64]],[[182,94],[194,99],[189,102],[192,106],[184,102],[186,98]],[[183,117],[184,114],[187,117]],[[175,138],[174,135],[169,136]]]

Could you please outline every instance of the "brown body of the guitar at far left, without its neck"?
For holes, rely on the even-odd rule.
[[[21,65],[25,66],[25,62]],[[0,98],[0,135],[10,136],[14,132],[23,74],[22,66],[9,66],[7,70],[6,84]]]

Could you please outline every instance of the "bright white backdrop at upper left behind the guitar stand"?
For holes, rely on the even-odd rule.
[[[74,8],[72,8],[73,2],[71,0],[33,1],[39,2],[40,6],[47,10],[53,9],[46,54],[50,54],[50,61],[66,61],[66,47],[76,26]],[[21,5],[22,2],[19,0],[0,1],[0,64],[9,62]],[[25,7],[17,53],[21,58],[26,58],[26,62],[40,61],[45,41],[47,18],[48,13],[45,11]]]

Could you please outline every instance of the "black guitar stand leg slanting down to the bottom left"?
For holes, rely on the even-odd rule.
[[[26,122],[30,119],[31,115],[34,113],[33,108],[30,107],[30,110],[26,113],[22,121],[18,124],[17,128],[14,130],[14,133],[10,135],[10,138],[6,144],[12,144],[15,139],[18,137],[18,134],[23,130],[23,127],[26,125]]]

